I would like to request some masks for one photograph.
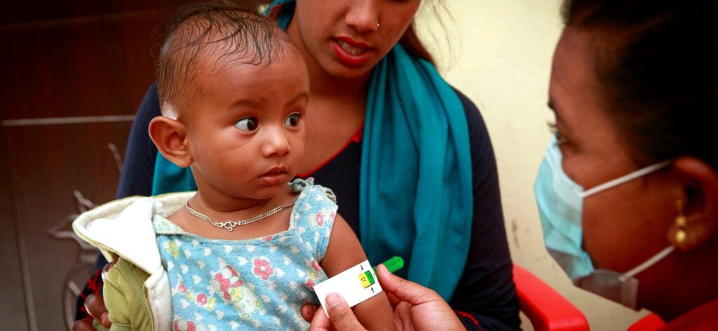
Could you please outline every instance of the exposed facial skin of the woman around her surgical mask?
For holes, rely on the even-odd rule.
[[[605,109],[594,72],[597,54],[590,35],[565,29],[554,55],[549,103],[564,155],[564,172],[588,190],[633,172],[628,141]],[[670,245],[668,228],[680,192],[671,172],[658,171],[584,200],[583,246],[596,269],[628,271]],[[658,272],[651,268],[639,275]]]

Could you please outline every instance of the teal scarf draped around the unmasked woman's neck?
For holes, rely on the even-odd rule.
[[[278,23],[286,29],[294,0],[271,6],[282,2]],[[373,69],[363,137],[359,223],[371,264],[401,256],[408,268],[400,276],[449,300],[466,264],[473,213],[459,98],[431,63],[396,45]],[[152,194],[196,190],[191,176],[158,154]]]

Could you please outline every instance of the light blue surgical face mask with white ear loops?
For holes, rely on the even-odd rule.
[[[538,169],[534,187],[546,249],[576,286],[626,307],[638,309],[638,279],[634,276],[668,256],[673,251],[673,246],[668,246],[624,274],[612,270],[596,270],[591,257],[582,248],[583,201],[598,192],[668,167],[672,161],[653,164],[591,190],[584,190],[564,173],[561,167],[562,159],[556,137],[552,136],[544,162]]]

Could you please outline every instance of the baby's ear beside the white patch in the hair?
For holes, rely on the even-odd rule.
[[[149,122],[149,136],[159,152],[165,159],[182,168],[192,164],[186,134],[185,124],[166,116],[157,116]]]

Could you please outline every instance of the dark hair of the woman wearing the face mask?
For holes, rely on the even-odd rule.
[[[567,0],[563,14],[592,36],[602,106],[635,161],[691,155],[718,169],[718,1]]]

